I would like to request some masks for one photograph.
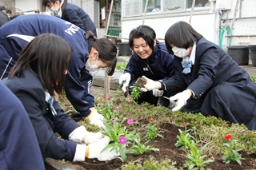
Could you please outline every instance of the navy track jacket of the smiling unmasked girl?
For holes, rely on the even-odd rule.
[[[150,57],[142,59],[132,53],[124,73],[130,73],[130,82],[146,76],[154,81],[167,80],[174,75],[174,57],[166,50],[166,45],[157,42]]]

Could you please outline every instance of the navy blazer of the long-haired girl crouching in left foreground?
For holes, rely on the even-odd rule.
[[[25,69],[20,77],[6,78],[2,82],[22,101],[34,126],[43,158],[72,161],[76,143],[67,139],[79,125],[63,112],[58,101],[54,101],[57,115],[51,113],[45,90],[38,77],[29,69]],[[54,132],[58,132],[65,140],[58,139]]]

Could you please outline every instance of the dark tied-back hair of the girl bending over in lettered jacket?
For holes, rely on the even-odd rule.
[[[111,42],[108,38],[96,38],[91,31],[86,32],[86,39],[92,38],[92,47],[98,51],[98,57],[105,63],[109,63],[109,68],[107,69],[107,74],[112,76],[114,74],[114,69],[117,65],[117,52],[118,49],[114,42]]]

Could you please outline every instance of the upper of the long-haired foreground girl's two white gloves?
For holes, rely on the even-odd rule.
[[[69,140],[73,140],[78,144],[91,144],[98,142],[103,137],[101,132],[88,132],[84,126],[79,126],[73,132],[70,132]]]

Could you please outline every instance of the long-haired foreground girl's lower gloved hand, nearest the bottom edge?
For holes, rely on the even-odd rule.
[[[99,140],[97,143],[87,145],[87,158],[97,158],[100,161],[105,161],[113,160],[114,158],[118,157],[120,153],[117,153],[115,149],[113,151],[110,151],[112,148],[108,148],[104,152],[102,152],[102,149],[105,148],[106,145],[109,143],[110,138],[105,136],[102,140]]]

